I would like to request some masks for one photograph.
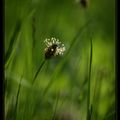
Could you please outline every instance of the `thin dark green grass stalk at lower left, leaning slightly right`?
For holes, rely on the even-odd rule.
[[[19,94],[20,94],[20,88],[21,88],[21,81],[22,81],[23,75],[20,78],[20,82],[19,82],[19,87],[18,87],[18,92],[17,92],[17,96],[16,96],[16,103],[15,103],[15,109],[14,109],[14,120],[16,120],[16,116],[17,116],[17,106],[18,106],[18,98],[19,98]]]

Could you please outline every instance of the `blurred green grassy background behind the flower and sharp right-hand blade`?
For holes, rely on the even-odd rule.
[[[66,51],[32,85],[51,37]],[[5,119],[86,120],[88,91],[89,120],[115,120],[115,1],[5,0]]]

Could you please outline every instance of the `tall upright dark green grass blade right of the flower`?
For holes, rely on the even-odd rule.
[[[91,67],[92,67],[92,39],[91,39],[91,50],[90,50],[90,66],[88,76],[88,95],[87,95],[87,120],[91,120],[91,108],[90,108],[90,79],[91,79]]]

